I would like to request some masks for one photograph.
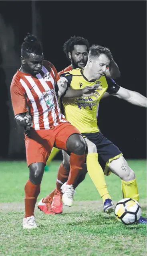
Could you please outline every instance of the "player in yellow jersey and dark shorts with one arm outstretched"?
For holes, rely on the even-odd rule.
[[[68,88],[62,98],[64,115],[77,127],[83,136],[92,141],[97,146],[99,158],[104,162],[104,172],[109,175],[111,172],[121,178],[122,191],[124,198],[133,198],[139,201],[139,193],[135,173],[128,166],[123,158],[122,152],[102,133],[97,127],[97,105],[105,92],[125,99],[128,102],[147,107],[147,99],[139,94],[122,88],[117,85],[111,78],[107,78],[104,73],[111,60],[109,49],[99,45],[90,47],[87,65],[85,68],[71,70],[62,74],[68,80]],[[99,84],[101,89],[99,96],[81,96],[81,92],[87,86]],[[87,155],[87,169],[93,182],[95,183],[95,163],[97,162],[97,153]],[[72,201],[74,189],[64,183],[61,186],[65,205]],[[68,200],[67,200],[68,199]],[[108,199],[110,200],[110,199]],[[105,203],[104,203],[105,208]],[[146,223],[147,220],[141,217],[138,223]]]

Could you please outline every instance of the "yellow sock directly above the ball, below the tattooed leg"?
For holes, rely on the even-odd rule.
[[[139,201],[139,193],[136,178],[131,181],[121,180],[123,198],[132,198]]]

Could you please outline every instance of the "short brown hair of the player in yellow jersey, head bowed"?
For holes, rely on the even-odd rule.
[[[89,56],[99,57],[100,54],[105,54],[110,59],[110,61],[113,58],[111,51],[107,47],[103,47],[101,45],[92,45],[89,48]]]

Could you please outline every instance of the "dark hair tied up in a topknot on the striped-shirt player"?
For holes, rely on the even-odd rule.
[[[43,48],[37,37],[28,33],[24,38],[24,42],[21,45],[21,56],[26,56],[28,53],[34,53],[36,55],[42,55]]]

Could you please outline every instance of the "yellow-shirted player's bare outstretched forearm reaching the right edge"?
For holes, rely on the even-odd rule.
[[[117,93],[111,95],[116,96],[117,98],[120,98],[122,100],[126,100],[133,105],[147,107],[147,98],[145,96],[143,96],[139,92],[127,90],[121,86]]]

